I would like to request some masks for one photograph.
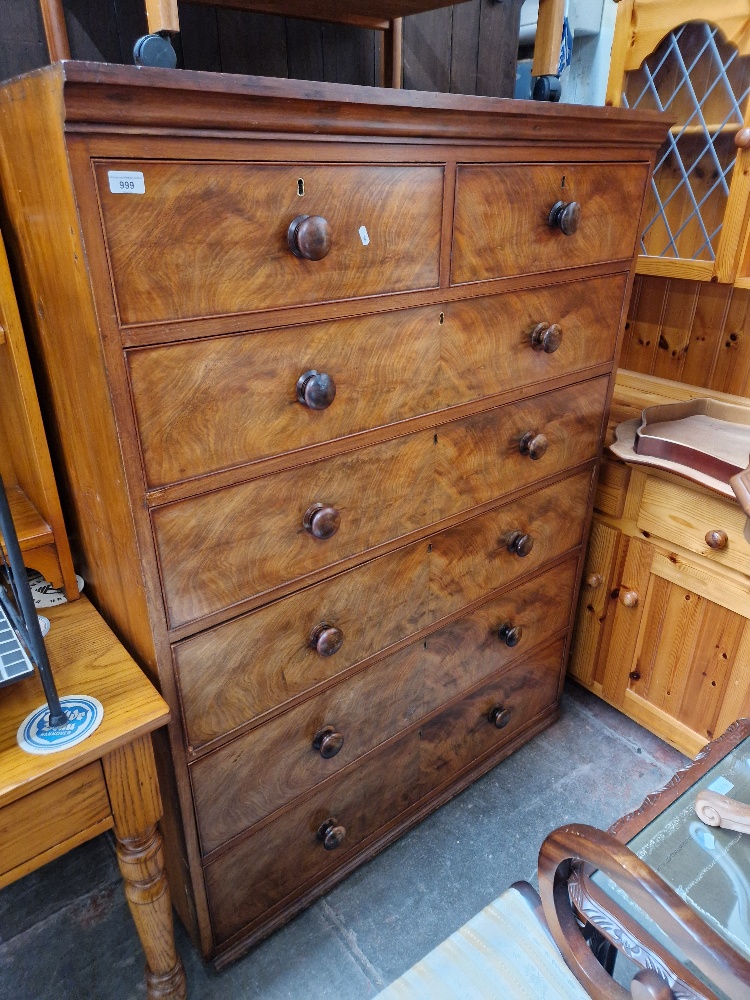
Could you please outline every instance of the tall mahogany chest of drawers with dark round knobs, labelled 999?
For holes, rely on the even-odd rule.
[[[62,63],[4,225],[225,964],[557,716],[663,116]]]

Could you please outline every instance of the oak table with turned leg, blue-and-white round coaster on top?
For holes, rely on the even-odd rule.
[[[184,1000],[151,746],[169,709],[85,597],[44,614],[60,695],[98,699],[104,718],[78,746],[36,756],[19,748],[16,732],[44,703],[38,675],[0,691],[0,888],[114,829],[149,1000]]]

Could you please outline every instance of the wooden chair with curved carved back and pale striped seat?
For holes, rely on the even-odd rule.
[[[639,928],[643,968],[630,990],[618,985],[588,942],[569,882],[582,867],[604,872],[700,972],[733,1000],[750,996],[750,963],[691,910],[656,872],[609,833],[571,825],[551,833],[539,854],[540,897],[528,883],[511,886],[378,995],[376,1000],[717,1000],[717,994]],[[613,915],[632,921],[612,904]],[[651,955],[659,955],[659,971]],[[632,957],[632,956],[631,956]],[[610,967],[611,969],[611,967]]]

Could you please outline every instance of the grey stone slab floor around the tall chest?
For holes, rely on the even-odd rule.
[[[685,758],[570,685],[562,718],[217,974],[178,927],[190,1000],[372,997],[517,879],[545,835],[607,827]],[[104,835],[0,892],[3,1000],[136,1000],[143,959]]]

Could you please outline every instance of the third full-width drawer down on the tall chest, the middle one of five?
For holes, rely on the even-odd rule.
[[[190,746],[253,722],[579,545],[590,482],[589,472],[564,479],[177,643]],[[523,558],[503,547],[514,529],[534,540]],[[321,623],[342,633],[333,655],[311,646]]]

